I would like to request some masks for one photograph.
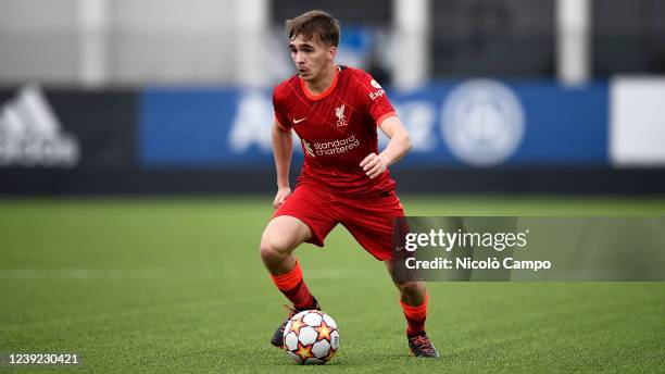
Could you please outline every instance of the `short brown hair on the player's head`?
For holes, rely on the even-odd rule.
[[[309,11],[292,20],[287,20],[286,32],[289,39],[302,35],[306,40],[337,47],[339,45],[339,21],[324,11]]]

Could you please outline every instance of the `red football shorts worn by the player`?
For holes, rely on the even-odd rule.
[[[404,216],[404,210],[394,191],[348,198],[303,183],[273,217],[279,215],[297,217],[310,226],[312,238],[308,242],[318,247],[324,246],[328,233],[341,223],[367,252],[385,261],[392,259],[392,219]]]

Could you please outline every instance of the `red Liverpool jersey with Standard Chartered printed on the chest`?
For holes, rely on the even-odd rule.
[[[273,92],[275,119],[301,139],[304,164],[298,183],[312,182],[336,194],[364,196],[394,188],[390,173],[374,179],[360,163],[378,154],[377,124],[397,115],[386,92],[359,68],[337,66],[330,87],[312,95],[293,76]]]

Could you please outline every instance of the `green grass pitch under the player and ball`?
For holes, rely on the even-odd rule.
[[[411,215],[663,215],[665,200],[404,197]],[[259,259],[272,197],[0,201],[0,352],[78,366],[0,372],[663,372],[663,283],[430,283],[442,358],[407,356],[382,264],[336,228],[297,251],[340,325],[323,367],[268,342],[286,299]],[[664,249],[665,250],[665,249]]]

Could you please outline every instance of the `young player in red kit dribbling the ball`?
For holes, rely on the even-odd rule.
[[[388,166],[411,140],[381,86],[367,73],[335,64],[339,22],[312,11],[286,23],[298,74],[273,94],[273,147],[277,169],[277,209],[261,239],[261,258],[277,288],[293,303],[289,317],[319,309],[291,254],[302,242],[323,247],[341,223],[355,240],[391,271],[392,219],[403,216]],[[390,141],[378,152],[377,127]],[[291,130],[301,139],[304,165],[293,192],[289,187]],[[425,334],[427,290],[419,282],[396,284],[416,357],[439,352]],[[288,319],[271,342],[281,347]]]

